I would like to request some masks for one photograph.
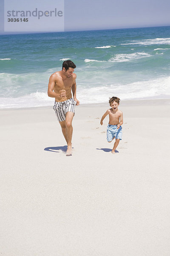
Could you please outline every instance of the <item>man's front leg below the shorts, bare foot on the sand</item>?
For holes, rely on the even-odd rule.
[[[66,155],[69,155],[72,153],[72,134],[73,134],[73,126],[72,126],[72,120],[73,120],[74,113],[73,112],[67,112],[65,115],[65,127],[66,127],[66,141],[67,141],[67,152]]]

